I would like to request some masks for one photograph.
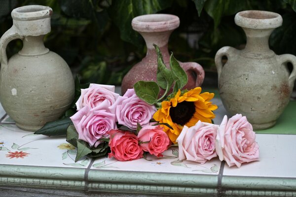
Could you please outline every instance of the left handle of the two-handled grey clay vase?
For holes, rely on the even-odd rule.
[[[231,46],[224,46],[221,49],[219,49],[216,53],[215,56],[215,65],[217,67],[217,72],[218,72],[218,82],[220,81],[220,75],[222,72],[222,57],[226,56],[227,57],[227,61],[229,61],[230,56],[233,57],[233,55],[235,55],[237,53],[237,49],[231,47]]]

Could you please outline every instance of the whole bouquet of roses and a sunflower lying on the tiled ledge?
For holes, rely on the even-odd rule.
[[[77,111],[69,109],[59,120],[66,123],[60,125],[64,130],[67,127],[67,141],[77,147],[75,162],[86,155],[108,155],[119,161],[146,158],[147,154],[162,157],[176,143],[180,160],[203,164],[219,156],[229,166],[238,167],[258,160],[255,132],[246,117],[237,114],[227,120],[225,116],[221,125],[212,124],[213,111],[218,108],[210,101],[214,94],[201,93],[200,87],[182,90],[187,83],[183,68],[173,54],[167,68],[156,45],[155,50],[157,82],[139,81],[123,96],[110,85],[78,88]],[[165,90],[162,96],[160,88]],[[65,133],[53,131],[56,124],[48,123],[35,133]]]

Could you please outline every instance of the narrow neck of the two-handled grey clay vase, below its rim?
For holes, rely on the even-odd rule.
[[[245,52],[261,54],[270,51],[268,40],[274,29],[243,29],[247,36]]]

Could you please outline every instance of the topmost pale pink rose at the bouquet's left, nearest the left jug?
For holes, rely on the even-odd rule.
[[[89,88],[81,89],[81,96],[76,102],[77,110],[82,109],[84,106],[95,108],[104,100],[108,101],[108,105],[110,107],[119,97],[118,94],[114,93],[114,90],[115,86],[93,83],[90,84]],[[112,112],[115,113],[115,111]]]

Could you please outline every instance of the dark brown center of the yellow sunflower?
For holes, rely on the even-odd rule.
[[[174,123],[185,125],[195,113],[194,102],[183,101],[170,108],[170,116]]]

